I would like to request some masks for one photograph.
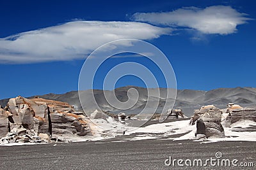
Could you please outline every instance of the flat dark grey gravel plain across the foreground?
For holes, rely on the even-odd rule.
[[[127,136],[81,143],[51,143],[45,145],[0,146],[0,169],[255,169],[256,143],[226,141],[199,143],[147,139],[120,141]],[[118,140],[117,140],[118,139]],[[54,146],[55,145],[55,146]],[[172,159],[237,159],[253,162],[253,167],[179,167],[164,166]],[[184,164],[184,163],[183,163]]]

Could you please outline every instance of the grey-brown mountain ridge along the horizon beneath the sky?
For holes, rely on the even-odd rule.
[[[127,90],[130,89],[132,86],[129,87],[120,87],[115,89],[116,97],[120,101],[127,101]],[[139,92],[139,99],[138,102],[131,110],[127,111],[127,113],[136,113],[142,110],[142,108],[147,103],[147,89],[143,87],[133,87],[138,90]],[[152,90],[153,92],[158,89],[148,89]],[[160,88],[161,95],[166,92],[166,89]],[[100,108],[104,111],[110,112],[120,112],[119,110],[115,110],[111,108],[107,101],[104,99],[103,90],[93,90],[95,92],[95,99],[99,104]],[[88,90],[84,90],[84,93],[88,92]],[[164,95],[163,95],[164,96]],[[32,96],[33,97],[33,96]],[[52,99],[67,102],[71,105],[74,105],[77,110],[82,110],[81,104],[79,102],[79,97],[77,91],[67,92],[65,94],[45,94],[39,96],[45,99]],[[31,98],[31,97],[29,97]],[[150,96],[149,101],[156,101],[157,98],[154,96]],[[86,99],[86,101],[90,102],[92,99]],[[8,99],[0,100],[1,106],[6,106]],[[200,108],[200,106],[207,105],[207,104],[214,104],[220,108],[225,108],[227,103],[236,103],[240,104],[241,106],[250,106],[252,108],[256,107],[256,88],[253,87],[236,87],[236,88],[220,88],[214,89],[209,91],[203,90],[177,90],[177,99],[175,102],[175,108],[182,108],[186,115],[192,115],[193,110],[196,108]],[[164,101],[160,99],[159,101],[159,108],[163,107]],[[85,111],[93,111],[95,108],[86,108]],[[148,110],[150,112],[150,110]]]

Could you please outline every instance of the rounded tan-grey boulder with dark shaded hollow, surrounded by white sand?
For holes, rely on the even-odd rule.
[[[213,105],[202,106],[195,110],[190,124],[196,122],[196,137],[204,135],[205,138],[225,138],[224,129],[221,125],[221,110]],[[200,135],[199,135],[200,134]]]

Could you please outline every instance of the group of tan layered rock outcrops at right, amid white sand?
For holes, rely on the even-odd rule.
[[[237,122],[256,122],[256,109],[243,108],[238,104],[228,103],[227,108],[220,110],[214,105],[202,106],[195,110],[190,125],[196,124],[195,136],[200,138],[225,138],[225,129]]]

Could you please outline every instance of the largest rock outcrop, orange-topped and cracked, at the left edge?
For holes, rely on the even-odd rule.
[[[87,134],[90,127],[86,118],[68,103],[18,96],[0,109],[0,138],[5,136],[1,139],[5,143],[50,141],[54,139],[51,136]]]

